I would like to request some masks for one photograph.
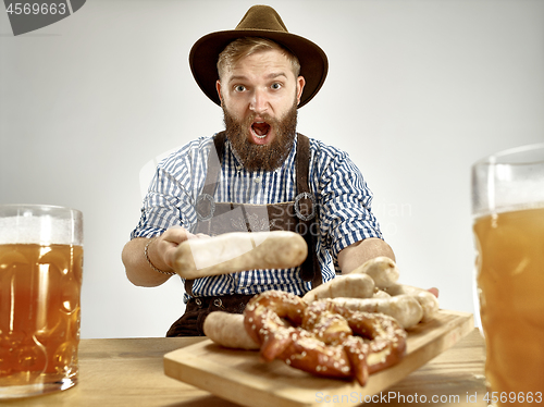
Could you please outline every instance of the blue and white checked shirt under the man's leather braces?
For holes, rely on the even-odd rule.
[[[293,201],[296,196],[296,143],[297,139],[277,170],[247,171],[227,140],[214,200],[255,205]],[[201,137],[159,163],[132,238],[157,236],[173,225],[194,231],[197,223],[195,206],[203,188],[208,156],[210,151],[217,156],[213,147],[212,137]],[[320,214],[317,254],[323,282],[326,282],[339,272],[336,259],[343,248],[364,238],[382,238],[382,234],[371,211],[372,193],[348,155],[312,138],[310,151],[309,187]],[[294,268],[198,279],[193,293],[211,296],[282,289],[304,295],[310,288],[311,283],[302,281],[298,268]]]

